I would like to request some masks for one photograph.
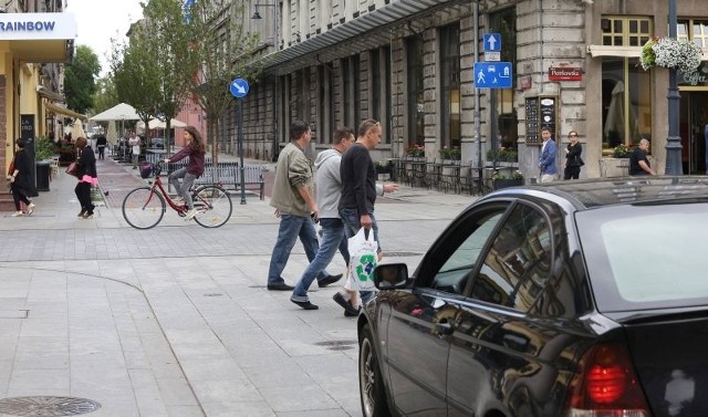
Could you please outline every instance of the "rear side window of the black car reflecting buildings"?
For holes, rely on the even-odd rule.
[[[551,249],[545,217],[533,207],[517,205],[493,238],[470,296],[529,311],[550,275]]]

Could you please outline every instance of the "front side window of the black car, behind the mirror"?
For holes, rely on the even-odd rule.
[[[503,210],[486,211],[464,220],[464,227],[457,228],[457,236],[447,240],[447,252],[437,253],[442,265],[435,273],[431,288],[454,294],[462,294],[475,270],[485,243],[499,222]],[[456,244],[457,242],[458,244]],[[449,250],[452,247],[454,250]]]

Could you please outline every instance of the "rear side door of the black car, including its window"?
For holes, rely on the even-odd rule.
[[[518,201],[487,247],[450,336],[449,416],[489,409],[537,416],[552,397],[554,365],[570,340],[538,315],[529,317],[541,309],[565,311],[546,305],[543,295],[561,286],[550,279],[561,234],[550,219],[540,206]]]

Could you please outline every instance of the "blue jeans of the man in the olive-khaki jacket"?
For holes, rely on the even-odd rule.
[[[285,269],[290,251],[295,246],[295,240],[300,237],[302,246],[305,248],[308,260],[312,262],[317,254],[319,243],[317,233],[314,230],[314,223],[310,216],[293,216],[280,213],[280,229],[278,230],[278,239],[273,248],[273,254],[270,258],[270,268],[268,269],[268,285],[284,284],[280,274]],[[330,277],[326,271],[320,272],[319,279]]]

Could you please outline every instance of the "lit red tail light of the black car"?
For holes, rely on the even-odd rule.
[[[568,417],[648,417],[649,407],[634,372],[627,347],[618,343],[593,346],[581,362]]]

